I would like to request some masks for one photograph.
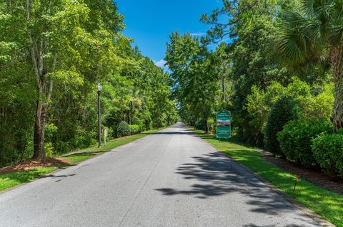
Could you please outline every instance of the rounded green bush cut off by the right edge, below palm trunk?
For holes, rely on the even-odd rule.
[[[343,135],[322,134],[312,142],[314,158],[327,174],[343,177]]]

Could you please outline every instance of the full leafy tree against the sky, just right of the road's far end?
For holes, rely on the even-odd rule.
[[[191,124],[201,120],[204,130],[209,132],[207,120],[214,112],[213,99],[218,90],[211,53],[200,45],[198,38],[176,32],[167,43],[165,60],[172,70],[174,95],[182,117]]]

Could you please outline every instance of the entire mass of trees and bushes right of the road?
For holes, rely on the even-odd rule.
[[[342,179],[342,15],[343,1],[223,0],[207,36],[167,43],[180,117],[215,134],[230,110],[239,142]]]

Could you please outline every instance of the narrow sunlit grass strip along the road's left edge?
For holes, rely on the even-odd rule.
[[[10,189],[19,184],[32,181],[34,179],[39,178],[40,176],[49,174],[51,171],[55,171],[56,169],[61,169],[61,168],[68,167],[73,164],[77,164],[86,159],[94,157],[97,154],[109,152],[111,149],[114,149],[124,144],[128,144],[129,142],[133,142],[136,139],[141,139],[142,137],[145,137],[148,134],[153,134],[155,132],[158,132],[159,130],[149,130],[149,131],[141,132],[141,134],[134,134],[127,137],[113,139],[113,140],[110,140],[109,142],[106,142],[106,145],[103,144],[102,147],[100,148],[98,148],[96,145],[96,146],[89,147],[86,149],[81,149],[79,152],[66,154],[63,156],[63,158],[69,159],[69,164],[65,164],[61,167],[39,167],[37,169],[32,169],[32,170],[17,171],[17,172],[9,173],[9,174],[0,174],[0,191],[4,191],[6,189]]]

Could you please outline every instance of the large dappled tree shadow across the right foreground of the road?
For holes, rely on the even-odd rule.
[[[293,212],[293,208],[279,194],[224,154],[212,152],[192,158],[195,162],[182,164],[177,168],[177,174],[182,174],[185,180],[196,180],[197,184],[192,184],[189,189],[161,188],[156,191],[166,196],[187,195],[197,199],[235,193],[249,198],[245,202],[251,205],[249,211],[252,212],[272,216]]]

